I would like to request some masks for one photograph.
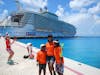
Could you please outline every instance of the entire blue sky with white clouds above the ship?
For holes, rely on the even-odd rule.
[[[74,25],[76,35],[100,36],[100,0],[19,0],[23,10],[48,8],[59,20]],[[15,0],[0,0],[0,21],[18,11]]]

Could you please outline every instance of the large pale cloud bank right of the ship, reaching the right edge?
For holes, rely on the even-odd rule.
[[[82,8],[78,13],[69,13],[60,6],[56,14],[59,16],[60,20],[70,23],[77,28],[76,35],[100,36],[100,16],[88,13],[88,9]]]

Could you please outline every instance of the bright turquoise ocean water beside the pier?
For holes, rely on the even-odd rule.
[[[100,69],[100,38],[55,38],[64,43],[64,57],[94,66]],[[40,48],[40,44],[46,43],[47,38],[18,39],[23,43],[31,42],[33,46]]]

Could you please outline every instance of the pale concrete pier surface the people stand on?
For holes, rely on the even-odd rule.
[[[5,39],[0,38],[0,75],[38,75],[36,60],[23,59],[23,56],[27,55],[26,45],[16,41],[11,47],[15,53],[13,57],[14,65],[7,64],[8,53],[5,47]],[[38,48],[33,47],[35,56],[38,50]],[[64,75],[100,75],[98,68],[68,58],[64,58],[64,60]],[[46,75],[50,75],[48,65],[46,68]]]

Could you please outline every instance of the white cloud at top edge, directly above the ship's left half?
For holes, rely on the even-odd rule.
[[[47,6],[47,0],[19,0],[25,10],[38,11]]]

